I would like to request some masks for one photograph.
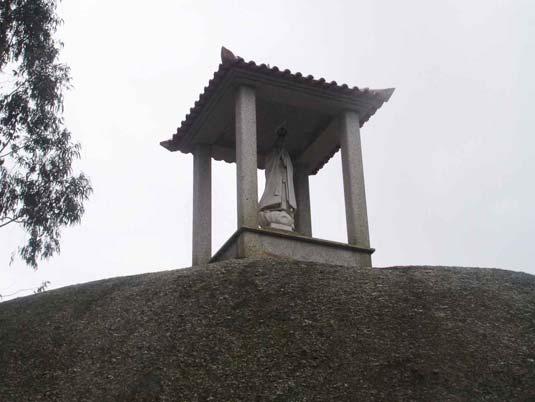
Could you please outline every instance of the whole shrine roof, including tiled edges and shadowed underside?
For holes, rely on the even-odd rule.
[[[255,88],[258,167],[276,140],[277,127],[288,130],[286,147],[297,163],[315,174],[338,151],[336,117],[345,110],[359,114],[360,125],[388,101],[389,89],[339,85],[266,64],[246,62],[221,49],[221,64],[171,139],[160,144],[169,151],[191,153],[196,145],[211,146],[216,160],[235,162],[235,88]]]

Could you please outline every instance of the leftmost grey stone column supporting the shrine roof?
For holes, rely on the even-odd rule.
[[[212,256],[212,157],[209,145],[193,151],[193,265]]]

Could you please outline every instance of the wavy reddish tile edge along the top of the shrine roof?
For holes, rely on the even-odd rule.
[[[190,108],[189,113],[180,123],[180,126],[177,128],[176,133],[173,135],[172,139],[168,141],[162,141],[160,143],[162,146],[169,149],[177,148],[176,145],[180,143],[184,134],[187,133],[192,124],[195,122],[195,119],[201,113],[203,107],[210,99],[210,96],[215,92],[218,84],[220,84],[226,77],[227,73],[234,68],[249,70],[257,74],[265,74],[269,77],[279,79],[282,78],[288,81],[310,85],[312,87],[328,90],[329,92],[337,93],[340,95],[357,96],[365,94],[367,96],[372,96],[375,97],[378,101],[378,107],[376,109],[379,109],[379,107],[384,102],[388,101],[390,99],[390,96],[392,96],[392,93],[394,92],[394,88],[373,90],[369,88],[349,87],[346,84],[338,84],[336,81],[327,82],[324,78],[315,79],[312,75],[304,76],[300,72],[292,73],[290,70],[287,69],[281,70],[276,66],[270,67],[267,64],[256,64],[254,61],[247,62],[243,58],[235,56],[234,53],[232,53],[225,47],[222,47],[221,64],[219,64],[218,70],[214,73],[214,76],[208,82],[208,85],[204,87],[204,91],[200,94],[199,99],[195,101],[193,107]],[[375,110],[373,112],[375,112]],[[364,116],[364,118],[360,121],[361,126],[371,117],[373,112],[370,113],[368,116]]]

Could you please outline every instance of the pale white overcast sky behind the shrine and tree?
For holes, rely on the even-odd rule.
[[[94,194],[37,271],[9,266],[24,233],[0,231],[0,294],[191,265],[192,157],[159,142],[222,45],[396,88],[361,130],[374,266],[535,274],[534,2],[78,0],[59,11],[74,84],[65,118]],[[236,229],[235,165],[212,172],[215,252]],[[311,178],[311,200],[314,236],[346,241],[339,154]]]

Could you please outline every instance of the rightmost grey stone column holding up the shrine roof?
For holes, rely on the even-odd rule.
[[[340,146],[342,149],[347,241],[349,244],[369,247],[370,235],[360,146],[360,122],[358,114],[353,111],[346,111],[340,117]]]

